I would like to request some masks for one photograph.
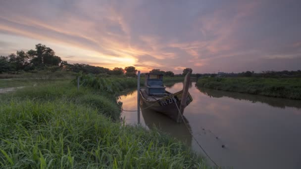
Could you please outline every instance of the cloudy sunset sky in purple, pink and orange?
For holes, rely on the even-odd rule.
[[[181,73],[301,69],[301,0],[0,0],[0,55]]]

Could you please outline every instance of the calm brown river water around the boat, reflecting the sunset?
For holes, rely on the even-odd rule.
[[[170,92],[182,83],[167,86]],[[223,167],[234,169],[301,169],[301,101],[198,89],[184,116],[207,154]],[[123,109],[137,110],[137,91],[121,96]],[[122,112],[126,123],[137,123],[137,112]],[[202,151],[184,124],[144,110],[141,124],[156,127]],[[218,137],[218,139],[216,139]],[[222,145],[226,145],[222,148]],[[209,160],[207,160],[209,162]]]

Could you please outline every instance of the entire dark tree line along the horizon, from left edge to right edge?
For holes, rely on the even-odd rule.
[[[16,72],[37,72],[40,70],[50,70],[52,72],[58,70],[66,70],[72,72],[83,72],[85,74],[108,74],[108,75],[126,75],[134,77],[137,74],[137,69],[134,66],[123,68],[115,67],[110,70],[100,66],[92,66],[89,64],[69,64],[63,61],[59,56],[55,55],[54,50],[44,44],[36,44],[35,49],[27,52],[20,50],[8,56],[0,56],[0,73],[14,74]],[[191,68],[185,68],[182,74],[175,75],[172,71],[162,71],[160,69],[152,69],[150,73],[163,74],[165,76],[184,76]],[[241,73],[224,73],[217,74],[192,74],[192,77],[301,77],[301,70],[298,71],[263,71],[254,73],[246,71]]]

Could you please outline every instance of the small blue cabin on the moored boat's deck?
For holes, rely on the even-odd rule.
[[[145,74],[145,89],[148,95],[164,95],[163,74]]]

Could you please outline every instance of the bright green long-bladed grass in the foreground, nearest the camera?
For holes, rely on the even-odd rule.
[[[89,107],[27,99],[0,112],[2,168],[205,168],[181,143]]]

